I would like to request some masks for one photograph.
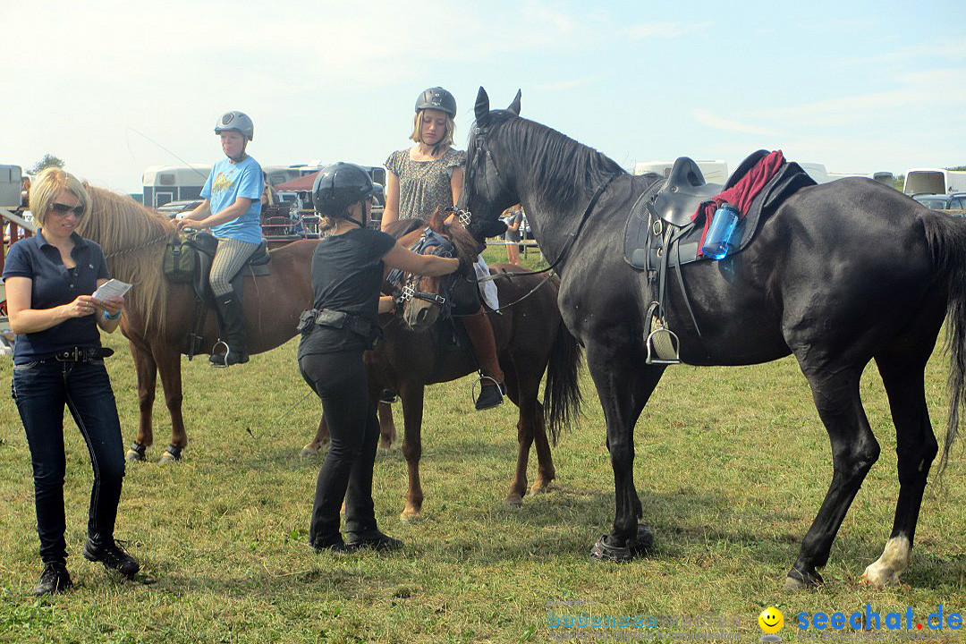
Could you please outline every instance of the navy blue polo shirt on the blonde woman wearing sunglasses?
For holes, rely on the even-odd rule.
[[[97,242],[71,234],[74,268],[64,266],[60,251],[43,238],[41,231],[20,239],[7,253],[3,279],[29,277],[31,309],[52,309],[70,304],[77,295],[90,295],[99,279],[108,279],[107,263]],[[96,314],[95,314],[96,315]],[[35,333],[20,333],[14,342],[14,364],[44,360],[73,347],[99,348],[100,333],[94,315],[71,318]]]

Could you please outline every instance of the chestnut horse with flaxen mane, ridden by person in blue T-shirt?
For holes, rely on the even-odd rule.
[[[78,233],[100,244],[114,277],[134,285],[121,319],[121,331],[128,338],[137,370],[141,412],[128,460],[145,460],[145,450],[154,443],[152,409],[160,373],[164,402],[171,412],[171,443],[161,461],[176,461],[187,445],[181,353],[194,324],[195,297],[190,286],[169,284],[161,274],[161,255],[174,224],[128,197],[93,186],[88,190],[92,208],[81,220]],[[270,253],[270,275],[245,276],[243,300],[250,353],[274,349],[295,336],[298,316],[312,306],[309,266],[317,243],[303,240],[275,249]],[[209,311],[200,352],[213,349],[215,320],[214,311]]]

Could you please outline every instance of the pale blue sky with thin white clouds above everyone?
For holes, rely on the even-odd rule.
[[[229,109],[263,165],[381,164],[434,85],[457,98],[460,147],[483,85],[500,107],[522,89],[523,116],[625,167],[733,169],[759,148],[831,172],[966,165],[961,1],[0,0],[0,24],[0,163],[57,154],[122,191],[150,165],[213,162]]]

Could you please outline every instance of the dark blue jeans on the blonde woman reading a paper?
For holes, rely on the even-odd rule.
[[[34,466],[37,533],[44,563],[64,561],[64,406],[84,436],[94,467],[87,535],[95,546],[114,539],[124,479],[124,445],[114,392],[102,360],[41,360],[14,365],[11,393]]]

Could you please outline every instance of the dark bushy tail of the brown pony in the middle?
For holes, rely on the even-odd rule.
[[[580,371],[583,352],[577,338],[561,320],[547,366],[544,384],[544,425],[556,446],[560,430],[580,419],[583,396]]]

